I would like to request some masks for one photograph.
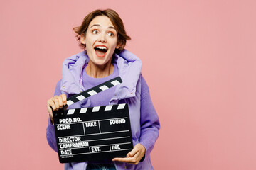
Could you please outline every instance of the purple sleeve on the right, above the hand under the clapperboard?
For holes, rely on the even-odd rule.
[[[154,143],[159,137],[160,122],[150,98],[149,86],[146,84],[143,77],[141,81],[141,136],[139,142],[146,148],[146,154],[144,156],[145,158],[149,156],[154,147]],[[141,162],[144,160],[144,158],[142,158]]]

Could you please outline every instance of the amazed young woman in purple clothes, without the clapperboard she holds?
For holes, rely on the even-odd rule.
[[[149,154],[159,136],[159,118],[141,74],[141,60],[124,50],[130,38],[122,19],[111,9],[96,10],[85,16],[82,25],[74,30],[84,51],[64,60],[62,79],[56,85],[54,97],[47,102],[50,114],[46,130],[48,144],[57,152],[51,108],[58,111],[71,95],[119,76],[122,84],[68,108],[128,103],[134,149],[124,158],[114,158],[110,162],[73,162],[65,164],[65,169],[153,169]]]

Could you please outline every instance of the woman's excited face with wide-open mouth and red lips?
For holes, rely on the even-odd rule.
[[[81,42],[86,45],[87,55],[93,64],[104,66],[111,62],[117,46],[117,30],[107,16],[96,16],[89,24]]]

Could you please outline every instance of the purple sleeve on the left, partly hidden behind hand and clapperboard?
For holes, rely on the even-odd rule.
[[[61,91],[60,91],[60,81],[58,81],[56,87],[55,87],[55,92],[54,92],[54,96],[56,95],[60,95]],[[54,130],[54,125],[51,124],[50,122],[50,115],[48,118],[48,126],[46,128],[46,139],[48,144],[50,145],[50,147],[55,150],[55,152],[58,152],[58,148],[57,148],[57,142],[56,142],[56,137],[55,137],[55,130]]]

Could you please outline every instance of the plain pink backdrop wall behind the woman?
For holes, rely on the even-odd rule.
[[[1,169],[63,169],[46,141],[46,101],[73,26],[113,8],[161,120],[155,169],[256,169],[256,3],[1,1]]]

